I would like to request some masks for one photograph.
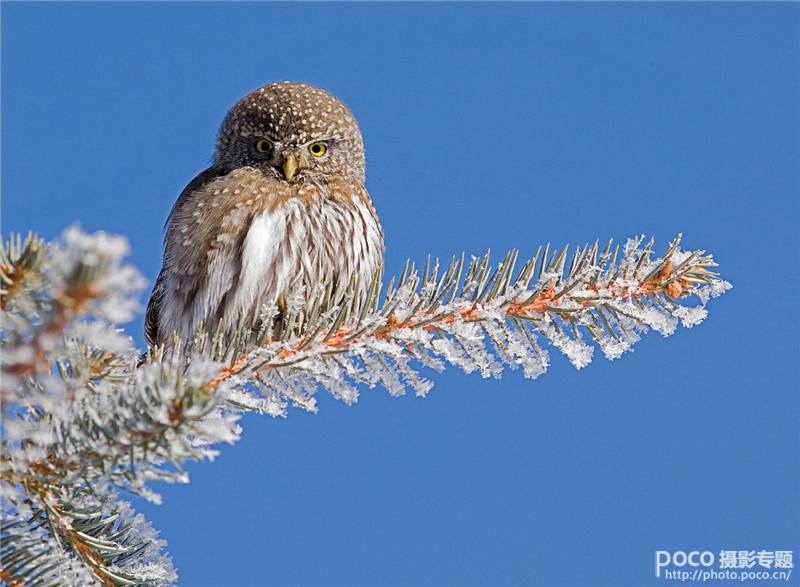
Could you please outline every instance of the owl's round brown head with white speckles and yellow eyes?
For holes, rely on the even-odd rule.
[[[308,84],[279,82],[231,109],[217,137],[214,165],[254,167],[282,181],[341,177],[364,182],[364,141],[340,100]]]

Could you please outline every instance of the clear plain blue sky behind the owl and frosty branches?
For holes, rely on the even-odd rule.
[[[551,350],[536,381],[449,370],[425,399],[245,417],[164,505],[134,501],[181,585],[656,585],[657,550],[800,559],[800,5],[0,10],[4,235],[124,234],[153,280],[227,110],[289,79],[355,113],[389,274],[682,232],[734,284],[613,363]]]

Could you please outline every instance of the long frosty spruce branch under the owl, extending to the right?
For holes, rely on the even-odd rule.
[[[571,257],[566,247],[552,254],[539,249],[517,273],[516,252],[495,268],[488,254],[469,265],[454,258],[444,271],[429,259],[421,274],[407,264],[397,286],[392,280],[381,294],[376,276],[363,305],[312,312],[305,334],[244,352],[217,381],[236,382],[235,404],[281,414],[287,401],[313,409],[317,385],[346,402],[355,401],[357,383],[381,384],[393,394],[410,386],[424,395],[432,383],[412,360],[436,370],[450,363],[483,377],[499,377],[505,364],[536,378],[550,363],[543,345],[577,368],[591,362],[594,345],[615,359],[648,328],[668,336],[679,322],[698,324],[708,298],[730,287],[709,270],[711,256],[682,251],[680,237],[657,259],[653,241],[642,241],[631,239],[622,251],[595,243]],[[679,303],[691,296],[700,304]],[[298,312],[288,322],[303,319]],[[243,387],[246,381],[260,393]]]

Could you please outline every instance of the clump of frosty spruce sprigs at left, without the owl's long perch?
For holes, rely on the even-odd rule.
[[[143,278],[124,239],[67,230],[47,247],[12,239],[0,259],[0,579],[8,585],[164,585],[163,542],[116,488],[157,501],[147,481],[186,481],[187,459],[238,437],[209,385],[221,365],[136,369],[113,324]]]

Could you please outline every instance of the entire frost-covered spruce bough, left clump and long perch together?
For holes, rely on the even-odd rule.
[[[516,253],[494,268],[488,254],[446,269],[406,264],[386,288],[376,274],[364,300],[360,284],[339,284],[310,311],[291,299],[280,313],[264,308],[255,333],[201,332],[168,358],[151,349],[142,359],[115,326],[144,284],[122,263],[124,239],[76,228],[50,245],[13,238],[0,258],[0,580],[174,582],[163,543],[118,491],[158,501],[149,482],[187,481],[182,463],[235,442],[243,410],[315,410],[319,387],[352,403],[360,383],[424,395],[432,384],[419,366],[499,377],[507,365],[535,378],[547,346],[581,368],[595,347],[614,359],[648,328],[691,327],[730,285],[678,241],[655,259],[641,238],[622,250],[540,249],[518,271]]]

